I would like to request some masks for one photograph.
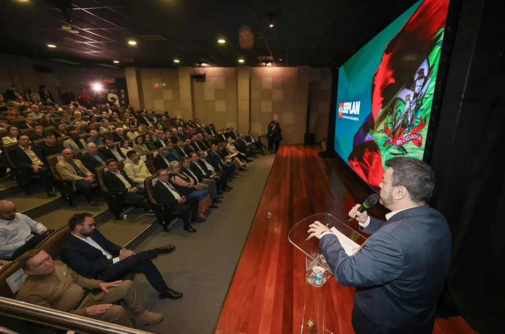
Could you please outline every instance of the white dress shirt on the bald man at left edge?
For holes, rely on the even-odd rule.
[[[8,257],[23,246],[33,235],[42,234],[47,228],[26,214],[16,213],[12,220],[0,219],[0,256]]]

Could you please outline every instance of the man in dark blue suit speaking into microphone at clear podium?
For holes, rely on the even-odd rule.
[[[357,334],[431,334],[435,308],[449,270],[451,237],[440,212],[426,203],[434,188],[424,161],[394,157],[380,184],[380,203],[391,210],[386,221],[359,212],[349,216],[372,234],[354,256],[348,256],[330,230],[316,221],[311,236],[321,248],[335,279],[357,287],[352,327]]]

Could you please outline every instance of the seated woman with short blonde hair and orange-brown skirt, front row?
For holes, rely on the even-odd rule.
[[[191,195],[198,197],[198,218],[206,219],[204,212],[212,204],[209,192],[195,185],[193,179],[188,175],[181,173],[178,161],[170,162],[169,170],[168,180],[170,184],[174,186],[175,190],[177,190],[181,196]]]

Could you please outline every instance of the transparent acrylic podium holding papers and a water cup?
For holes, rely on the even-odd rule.
[[[335,307],[331,309],[327,306],[327,301],[338,296],[331,296],[328,292],[328,280],[332,279],[332,272],[326,260],[319,249],[319,239],[313,237],[306,240],[309,236],[307,231],[309,225],[314,221],[319,221],[328,228],[336,229],[351,241],[356,243],[356,247],[350,249],[356,254],[367,241],[359,230],[356,220],[342,222],[329,213],[318,213],[294,225],[288,233],[288,239],[293,246],[305,255],[305,299],[302,316],[301,330],[294,330],[294,333],[300,334],[327,334],[338,332],[336,322]],[[296,258],[296,257],[295,257]],[[338,305],[338,301],[332,303]]]

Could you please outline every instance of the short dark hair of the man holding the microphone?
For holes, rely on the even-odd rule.
[[[423,160],[395,156],[386,160],[393,169],[391,187],[403,186],[415,203],[426,204],[435,188],[435,176],[431,166]]]

